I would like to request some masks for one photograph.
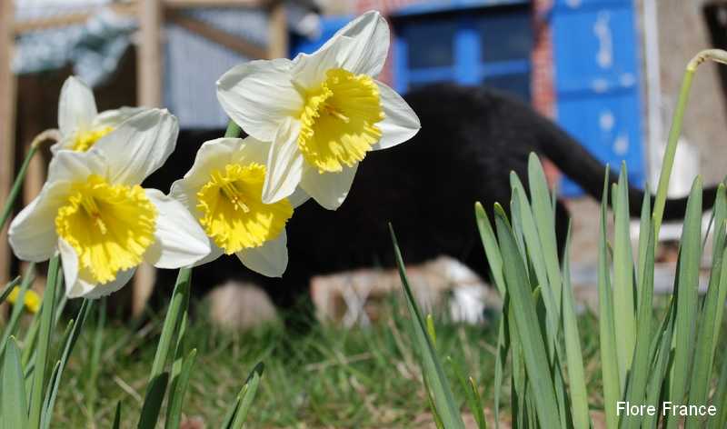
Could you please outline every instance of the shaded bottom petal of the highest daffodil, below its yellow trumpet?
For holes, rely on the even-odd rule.
[[[335,210],[342,204],[354,183],[354,175],[358,165],[344,166],[341,173],[320,174],[311,167],[306,167],[301,180],[303,190],[311,195],[319,205],[328,210]]]

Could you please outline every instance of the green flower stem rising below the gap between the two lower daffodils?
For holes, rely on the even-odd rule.
[[[174,332],[182,322],[184,313],[189,303],[189,287],[192,282],[192,268],[182,268],[176,278],[174,284],[174,293],[169,304],[169,309],[164,317],[164,325],[162,326],[162,334],[159,337],[159,344],[154,354],[154,364],[152,364],[152,372],[149,374],[149,380],[154,379],[164,371],[167,357],[172,349],[172,339]]]

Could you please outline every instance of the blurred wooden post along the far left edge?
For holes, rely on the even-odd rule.
[[[15,179],[15,75],[11,68],[15,22],[14,2],[0,1],[0,207]],[[7,227],[0,231],[0,284],[10,278]]]

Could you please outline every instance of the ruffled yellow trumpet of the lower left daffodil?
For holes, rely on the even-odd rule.
[[[89,175],[73,185],[55,217],[55,230],[78,254],[79,272],[105,284],[142,262],[154,243],[156,214],[141,186],[111,185]]]

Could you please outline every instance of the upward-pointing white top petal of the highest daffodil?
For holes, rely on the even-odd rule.
[[[351,38],[353,43],[347,44],[344,54],[339,56],[339,67],[355,75],[375,77],[381,73],[390,42],[389,25],[381,14],[370,11],[359,16],[336,32],[320,50],[338,44],[344,37]]]

